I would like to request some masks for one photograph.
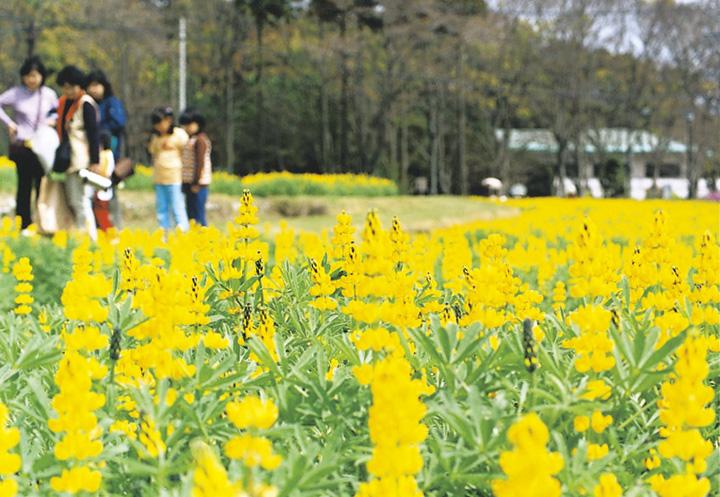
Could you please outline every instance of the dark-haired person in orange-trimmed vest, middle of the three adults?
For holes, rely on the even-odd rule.
[[[57,132],[60,141],[70,142],[70,165],[65,171],[65,194],[78,229],[97,237],[91,186],[85,185],[80,171],[97,171],[100,162],[99,111],[95,100],[85,93],[85,75],[75,66],[66,66],[57,75],[63,96],[58,102]]]

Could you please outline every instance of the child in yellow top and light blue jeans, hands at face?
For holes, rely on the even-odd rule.
[[[150,115],[153,126],[148,151],[153,162],[155,183],[155,211],[165,234],[172,228],[170,217],[182,231],[189,226],[182,198],[182,152],[189,137],[175,126],[173,110],[158,107]]]

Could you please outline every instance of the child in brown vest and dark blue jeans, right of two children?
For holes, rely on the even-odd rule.
[[[205,206],[212,175],[212,143],[205,134],[205,117],[195,110],[180,115],[180,125],[190,136],[183,150],[183,185],[188,218],[207,226]]]

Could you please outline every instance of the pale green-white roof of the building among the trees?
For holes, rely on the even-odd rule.
[[[496,129],[495,138],[502,140],[505,130]],[[585,153],[594,154],[598,149],[604,153],[627,153],[628,145],[632,144],[632,153],[648,154],[658,147],[668,153],[684,154],[687,146],[675,140],[660,142],[657,135],[648,131],[630,130],[626,128],[601,128],[589,130],[583,135]],[[558,144],[552,132],[547,129],[512,129],[510,130],[510,150],[539,153],[555,153]],[[571,145],[574,149],[574,146]]]

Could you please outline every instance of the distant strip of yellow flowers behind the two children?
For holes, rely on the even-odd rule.
[[[152,168],[138,166],[126,186],[129,190],[152,189]],[[228,195],[242,195],[250,188],[254,195],[338,195],[378,197],[397,195],[397,185],[385,178],[360,174],[294,174],[288,172],[258,173],[235,176],[224,171],[213,172],[211,189]]]

